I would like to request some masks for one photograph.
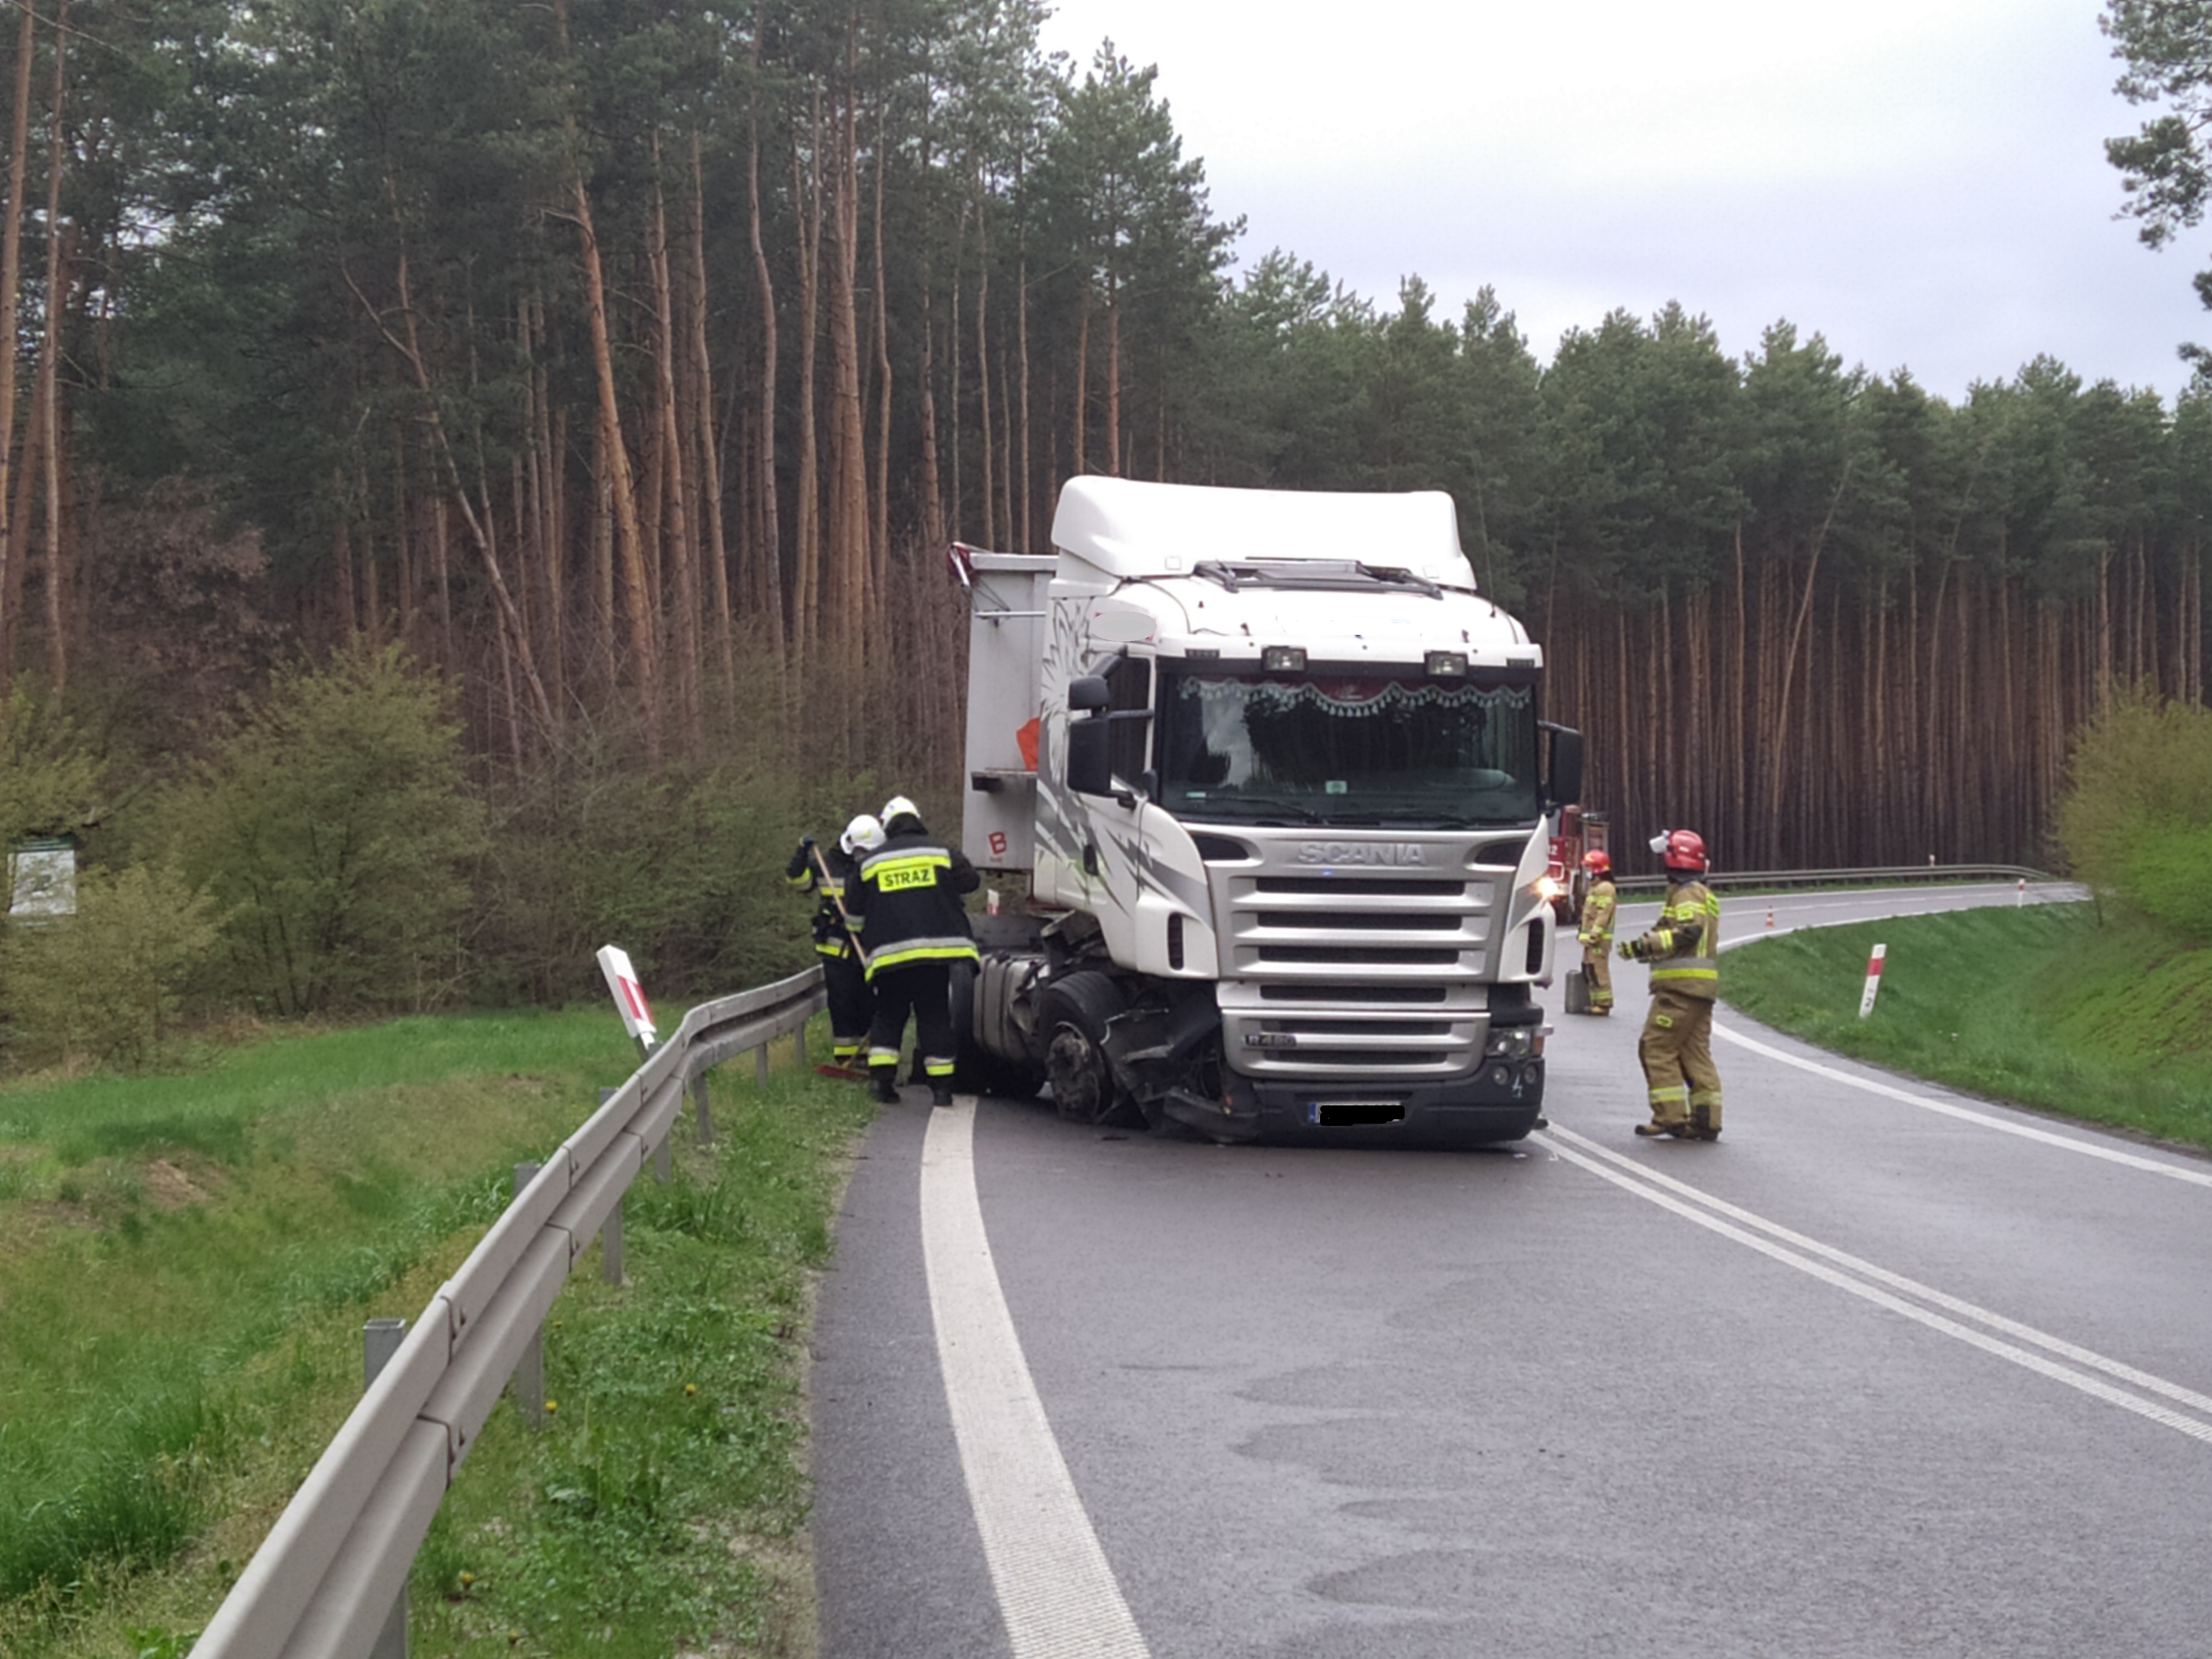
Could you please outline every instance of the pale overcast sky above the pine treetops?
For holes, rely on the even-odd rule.
[[[1551,358],[1679,299],[1721,349],[1790,319],[1958,400],[2037,354],[2188,380],[2190,274],[2115,221],[2104,139],[2143,111],[2097,0],[1057,0],[1046,46],[1157,64],[1241,261],[1394,307],[1484,283]]]

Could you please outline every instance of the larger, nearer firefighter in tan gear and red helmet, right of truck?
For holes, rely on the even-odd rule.
[[[1652,1119],[1637,1135],[1686,1141],[1721,1139],[1721,1073],[1712,1068],[1712,1000],[1721,989],[1721,900],[1705,874],[1705,841],[1694,830],[1652,836],[1666,863],[1659,925],[1621,940],[1621,956],[1650,962],[1652,1009],[1637,1040]]]

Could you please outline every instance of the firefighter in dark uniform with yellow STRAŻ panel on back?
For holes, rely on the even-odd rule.
[[[920,807],[894,794],[883,803],[885,843],[860,860],[845,911],[860,936],[876,1018],[867,1029],[867,1077],[876,1099],[898,1099],[898,1044],[914,1015],[914,1055],[929,1077],[929,1099],[953,1104],[951,964],[975,960],[962,894],[980,885],[958,847],[929,838]]]

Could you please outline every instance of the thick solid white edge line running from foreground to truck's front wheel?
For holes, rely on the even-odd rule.
[[[960,1473],[1015,1659],[1148,1659],[1022,1358],[975,1199],[975,1097],[929,1115],[922,1261]]]

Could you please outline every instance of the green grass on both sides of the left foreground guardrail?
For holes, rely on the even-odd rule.
[[[549,1433],[507,1407],[416,1573],[418,1652],[785,1652],[810,1586],[796,1334],[852,1084],[750,1062],[717,1146],[580,1261]],[[181,1652],[414,1318],[635,1064],[604,1009],[288,1035],[0,1091],[0,1652]],[[679,1141],[688,1139],[679,1135]]]

